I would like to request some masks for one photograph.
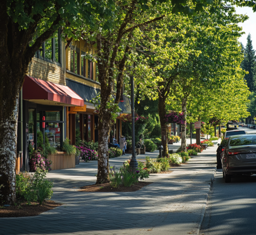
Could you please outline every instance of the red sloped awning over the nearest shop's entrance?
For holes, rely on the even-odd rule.
[[[23,99],[45,105],[83,106],[83,99],[67,86],[26,75]]]

